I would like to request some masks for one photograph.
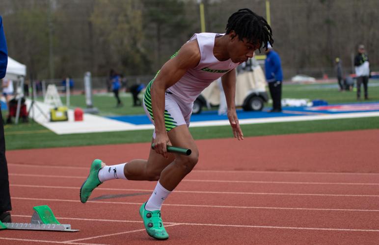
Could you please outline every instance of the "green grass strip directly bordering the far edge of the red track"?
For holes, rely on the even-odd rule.
[[[379,128],[379,117],[242,125],[245,137]],[[56,135],[38,123],[5,125],[6,149],[150,142],[152,130]],[[232,137],[230,126],[190,128],[194,139]]]

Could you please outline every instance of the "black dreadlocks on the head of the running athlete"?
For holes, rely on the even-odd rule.
[[[248,8],[240,9],[229,17],[225,33],[229,34],[232,30],[236,32],[241,41],[246,38],[253,44],[261,44],[259,52],[262,45],[267,50],[268,43],[271,46],[274,43],[270,25],[263,17]]]

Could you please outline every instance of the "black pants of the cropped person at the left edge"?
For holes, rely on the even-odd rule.
[[[12,210],[9,193],[8,166],[5,159],[4,126],[0,109],[0,213]]]

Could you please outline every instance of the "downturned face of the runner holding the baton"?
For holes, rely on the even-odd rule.
[[[253,44],[246,38],[240,40],[238,35],[231,34],[230,36],[230,46],[228,49],[230,59],[234,63],[243,63],[247,61],[248,58],[254,56],[254,51],[259,49],[259,44]]]

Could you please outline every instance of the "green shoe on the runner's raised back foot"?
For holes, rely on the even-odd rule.
[[[95,159],[92,162],[88,177],[81,185],[80,197],[82,203],[85,203],[91,196],[92,191],[101,184],[98,174],[99,170],[104,166],[105,163],[100,159]]]

